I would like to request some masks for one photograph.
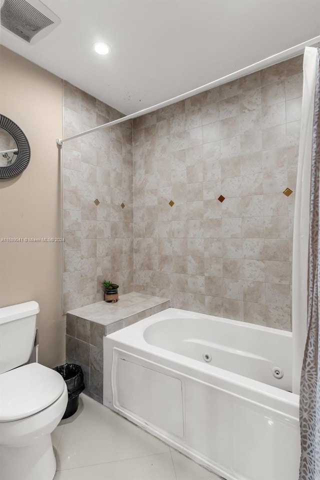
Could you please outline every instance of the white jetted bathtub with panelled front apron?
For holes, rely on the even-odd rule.
[[[103,403],[227,480],[297,480],[291,342],[168,308],[104,337]]]

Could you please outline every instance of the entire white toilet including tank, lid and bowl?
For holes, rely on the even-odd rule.
[[[68,394],[59,373],[25,364],[38,312],[36,301],[0,308],[0,480],[52,480],[55,474],[50,433]]]

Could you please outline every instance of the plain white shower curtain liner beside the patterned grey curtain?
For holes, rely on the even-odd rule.
[[[306,47],[303,57],[303,93],[296,180],[292,254],[292,391],[299,394],[306,340],[308,241],[312,124],[317,48]]]

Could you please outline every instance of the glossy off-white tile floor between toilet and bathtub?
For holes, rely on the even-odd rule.
[[[52,432],[54,480],[220,480],[109,408],[81,394]]]

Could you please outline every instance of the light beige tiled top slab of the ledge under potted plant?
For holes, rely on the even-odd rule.
[[[69,310],[67,315],[74,315],[99,323],[106,327],[105,333],[107,334],[153,313],[165,310],[169,306],[170,302],[167,298],[130,292],[119,295],[119,300],[116,303],[98,301],[81,308]]]

